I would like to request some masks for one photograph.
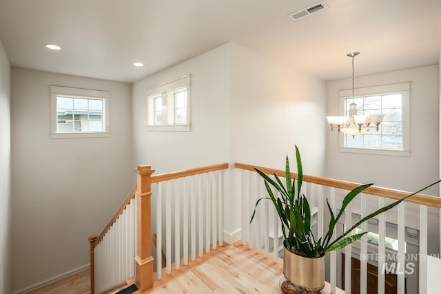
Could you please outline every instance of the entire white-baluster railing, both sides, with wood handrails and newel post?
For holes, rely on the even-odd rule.
[[[170,174],[152,175],[154,170],[147,165],[135,169],[136,186],[107,224],[103,232],[90,236],[91,284],[92,293],[112,293],[112,289],[127,285],[127,280],[136,284],[138,293],[152,288],[154,284],[166,283],[179,273],[201,263],[212,253],[223,250],[223,224],[225,218],[232,217],[229,207],[232,203],[224,200],[225,191],[240,191],[235,195],[240,204],[240,243],[256,253],[263,252],[265,258],[279,262],[282,239],[280,222],[270,203],[259,205],[256,221],[249,219],[258,198],[265,196],[265,186],[253,165],[236,163],[228,169],[227,163],[178,171]],[[265,174],[283,177],[285,171],[257,167]],[[294,178],[297,175],[292,173]],[[228,178],[229,180],[225,180]],[[303,175],[304,193],[309,198],[313,209],[313,230],[317,238],[322,236],[327,224],[326,198],[334,213],[338,212],[342,197],[359,184]],[[356,218],[367,216],[378,207],[407,196],[404,191],[369,187],[360,198],[354,200],[346,209],[340,227],[351,226]],[[441,198],[418,194],[402,202],[398,209],[387,216],[374,220],[375,227],[362,225],[360,229],[376,231],[378,238],[378,269],[382,269],[387,251],[384,237],[387,227],[396,225],[396,238],[399,248],[398,257],[404,258],[404,244],[407,231],[413,230],[418,235],[418,255],[428,252],[428,223],[433,213],[441,209]],[[439,222],[439,216],[436,215]],[[156,248],[152,246],[152,235],[156,234]],[[390,234],[390,232],[388,232]],[[274,236],[278,236],[275,238]],[[369,246],[368,246],[369,245]],[[329,253],[328,279],[332,293],[342,284],[351,284],[351,259],[340,258],[340,253],[352,256],[353,252],[369,255],[367,238],[362,238],[353,246],[347,246],[341,252]],[[163,253],[164,251],[164,253]],[[271,254],[274,253],[274,254]],[[156,262],[165,255],[165,262]],[[158,258],[159,257],[159,258]],[[370,263],[370,262],[369,262]],[[418,274],[415,291],[427,293],[427,260],[418,260]],[[340,276],[341,266],[345,265],[344,277]],[[368,260],[360,260],[360,293],[367,293]],[[404,294],[409,277],[398,273],[398,293]],[[350,293],[347,289],[346,293]],[[378,293],[384,294],[384,273],[378,272]]]

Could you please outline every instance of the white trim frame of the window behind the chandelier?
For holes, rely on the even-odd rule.
[[[411,83],[395,83],[389,85],[378,85],[373,87],[360,87],[354,89],[354,98],[385,95],[402,94],[402,150],[387,150],[374,148],[345,147],[345,136],[339,136],[338,149],[340,152],[358,154],[376,154],[385,156],[411,156],[410,150],[410,92]],[[338,91],[338,112],[345,115],[345,99],[352,97],[352,89]]]

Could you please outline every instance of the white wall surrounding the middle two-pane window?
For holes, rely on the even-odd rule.
[[[149,87],[192,74],[191,132],[146,131]],[[221,46],[133,85],[135,164],[155,174],[229,161],[229,51]]]

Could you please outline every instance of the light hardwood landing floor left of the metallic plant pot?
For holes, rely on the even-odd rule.
[[[279,293],[283,264],[246,246],[228,246],[212,258],[148,293]]]

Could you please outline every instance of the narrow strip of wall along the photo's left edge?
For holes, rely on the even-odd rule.
[[[12,292],[10,65],[0,41],[0,293]]]

